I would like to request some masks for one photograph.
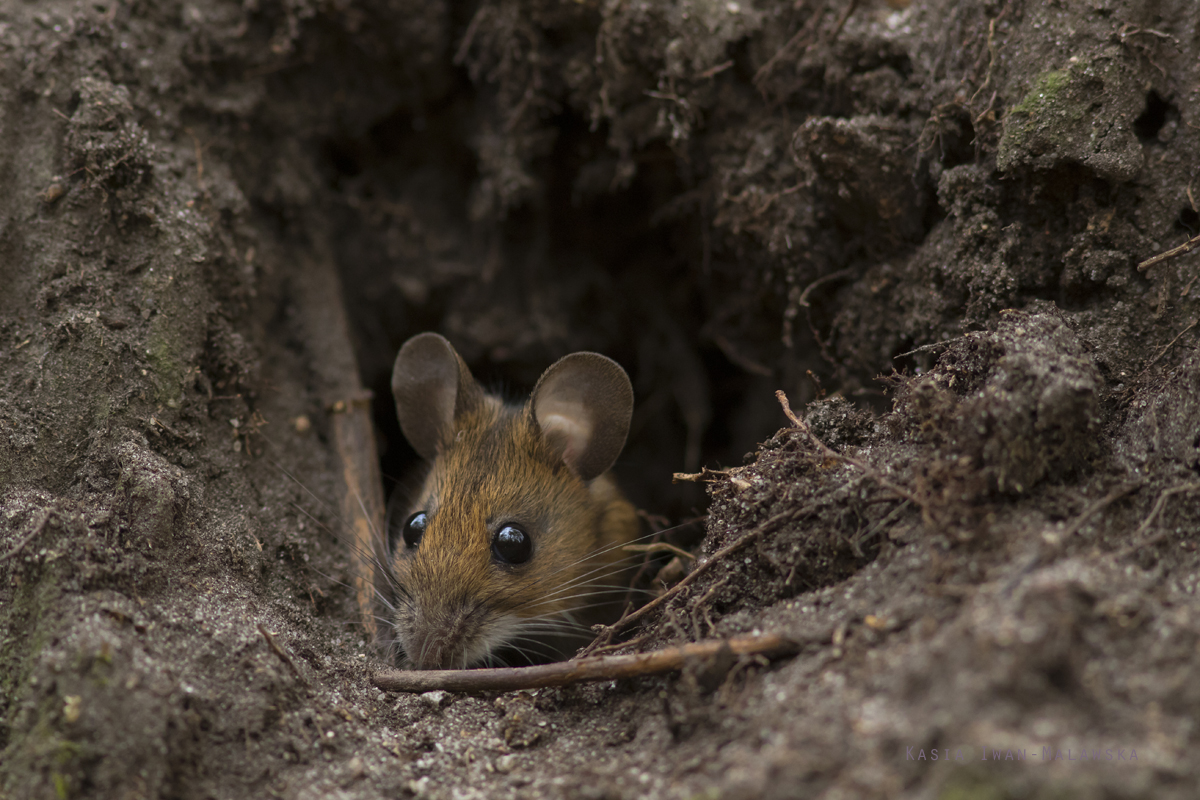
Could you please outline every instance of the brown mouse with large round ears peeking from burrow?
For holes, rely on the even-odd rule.
[[[524,403],[485,391],[438,333],[409,338],[391,379],[420,487],[388,524],[391,660],[410,669],[570,656],[622,610],[637,513],[610,468],[634,410],[599,353],[552,363]]]

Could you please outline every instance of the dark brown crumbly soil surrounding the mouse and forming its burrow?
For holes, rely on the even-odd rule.
[[[0,798],[1194,796],[1195,20],[0,2]],[[617,359],[648,530],[758,536],[638,646],[809,644],[377,690],[337,415],[403,486],[422,330]]]

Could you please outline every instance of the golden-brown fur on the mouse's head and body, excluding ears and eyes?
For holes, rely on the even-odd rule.
[[[416,668],[474,666],[510,643],[538,660],[560,657],[586,639],[541,630],[529,633],[533,642],[514,642],[521,636],[514,622],[574,618],[572,627],[586,631],[624,600],[614,591],[588,595],[623,583],[620,545],[637,535],[634,507],[607,473],[584,482],[564,463],[530,403],[481,399],[454,420],[397,521],[428,515],[420,546],[400,541],[391,564],[396,636]],[[493,560],[492,536],[504,523],[530,535],[527,563]]]

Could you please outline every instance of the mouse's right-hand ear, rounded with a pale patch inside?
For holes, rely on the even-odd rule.
[[[541,374],[529,404],[550,445],[590,481],[607,471],[625,446],[634,387],[612,359],[572,353]]]

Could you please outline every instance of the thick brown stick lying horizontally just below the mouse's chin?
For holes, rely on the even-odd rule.
[[[827,637],[828,638],[828,637]],[[722,651],[733,655],[763,655],[768,658],[799,652],[804,644],[778,633],[748,636],[727,640],[696,642],[676,648],[628,656],[572,658],[536,667],[503,669],[384,669],[372,675],[372,682],[389,692],[500,691],[546,686],[568,686],[584,681],[617,680],[640,675],[658,675],[682,669],[688,661],[712,658]],[[815,643],[815,640],[814,640]]]

